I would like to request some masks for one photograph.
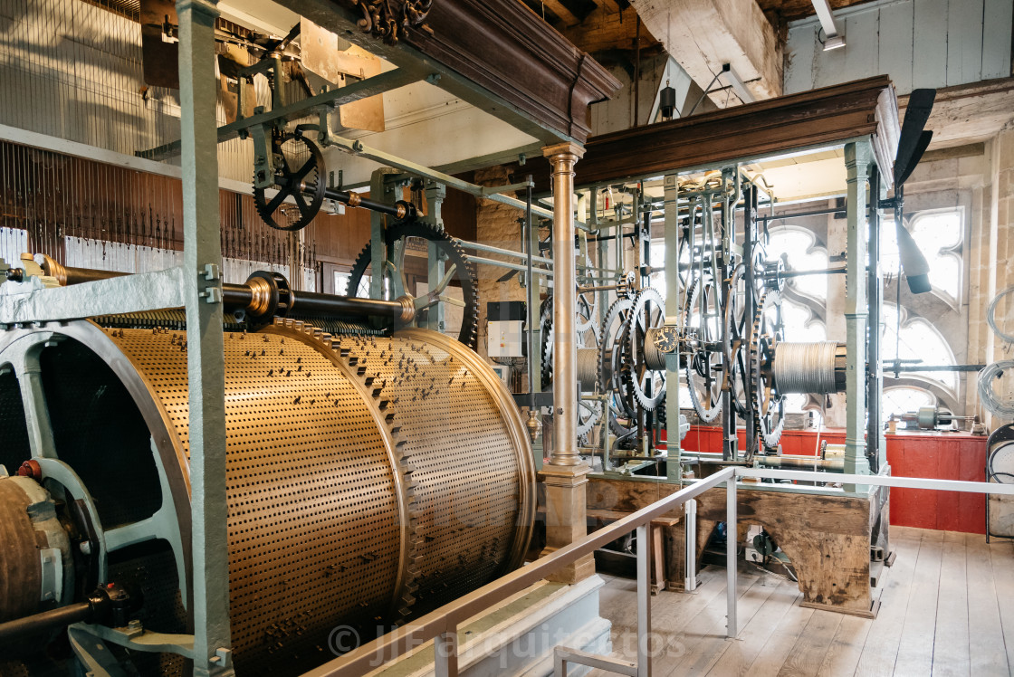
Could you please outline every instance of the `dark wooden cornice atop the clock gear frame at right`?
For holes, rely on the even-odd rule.
[[[886,75],[766,99],[693,118],[592,137],[575,166],[578,185],[717,166],[746,158],[834,145],[870,136],[890,180],[897,151],[897,99]],[[529,161],[536,190],[549,190],[549,163]]]

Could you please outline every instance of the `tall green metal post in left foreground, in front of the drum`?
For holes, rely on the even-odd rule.
[[[215,131],[215,19],[208,0],[179,0],[184,298],[190,380],[194,674],[231,675],[225,499],[225,360]]]

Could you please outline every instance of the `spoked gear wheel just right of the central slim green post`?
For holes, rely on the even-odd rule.
[[[722,411],[724,380],[718,288],[709,274],[696,279],[686,292],[683,306],[683,326],[694,333],[699,347],[686,359],[686,389],[698,418],[713,422]]]

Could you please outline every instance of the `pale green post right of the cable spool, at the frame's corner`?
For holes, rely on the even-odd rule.
[[[845,168],[848,196],[846,211],[849,231],[845,274],[845,333],[848,350],[846,372],[845,472],[869,474],[866,458],[866,180],[872,161],[868,142],[852,142],[845,146]],[[847,484],[846,492],[856,492]]]

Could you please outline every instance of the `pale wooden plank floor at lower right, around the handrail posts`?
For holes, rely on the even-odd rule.
[[[725,641],[725,571],[701,572],[695,594],[654,598],[653,630],[669,643],[660,677],[1014,674],[1014,543],[891,528],[875,619],[800,607],[795,584],[740,570],[740,635]],[[636,656],[636,583],[607,581],[602,615],[615,655]],[[602,675],[594,671],[592,675]]]

